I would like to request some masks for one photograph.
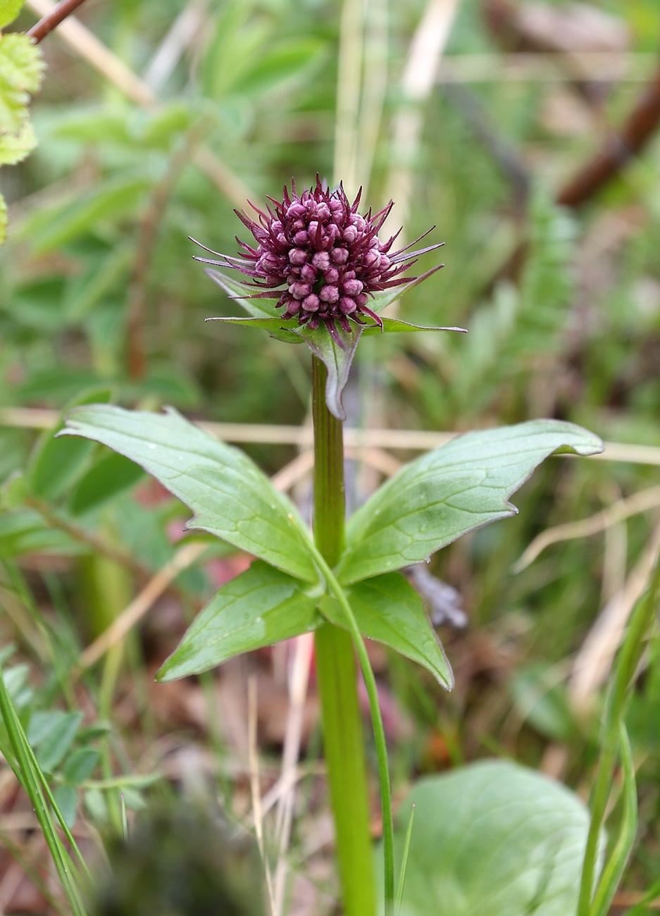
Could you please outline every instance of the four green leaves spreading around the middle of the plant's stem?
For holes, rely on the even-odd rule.
[[[76,407],[62,433],[103,442],[141,465],[193,510],[188,527],[209,531],[263,561],[215,595],[159,672],[160,680],[207,671],[325,619],[346,625],[341,607],[324,591],[297,509],[241,451],[171,408],[148,413],[107,404]],[[470,432],[407,464],[382,486],[349,521],[337,570],[363,636],[417,661],[451,689],[449,662],[422,601],[395,570],[425,560],[461,534],[514,515],[509,497],[561,448],[586,455],[600,452],[602,443],[558,420]],[[37,465],[32,473],[38,475]],[[126,474],[135,479],[124,465],[117,474],[118,485]],[[74,502],[85,511],[82,481],[79,488]]]

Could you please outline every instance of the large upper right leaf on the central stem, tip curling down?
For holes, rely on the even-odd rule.
[[[602,452],[573,423],[530,420],[468,432],[391,477],[351,518],[338,577],[355,582],[426,560],[434,551],[517,509],[509,497],[562,446]]]

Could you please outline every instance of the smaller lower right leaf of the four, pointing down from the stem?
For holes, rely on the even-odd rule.
[[[421,598],[401,573],[385,573],[347,590],[362,636],[376,639],[430,671],[447,690],[454,676]],[[341,607],[330,595],[320,604],[331,623],[345,627]]]

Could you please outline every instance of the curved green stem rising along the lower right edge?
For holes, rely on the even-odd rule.
[[[611,692],[603,717],[603,741],[596,781],[591,792],[591,822],[582,866],[579,889],[578,916],[589,916],[596,884],[596,867],[600,845],[600,831],[605,820],[610,799],[611,781],[619,753],[621,729],[630,690],[649,629],[655,620],[655,609],[660,596],[660,557],[655,562],[655,573],[649,590],[633,608],[628,632],[614,670]]]

